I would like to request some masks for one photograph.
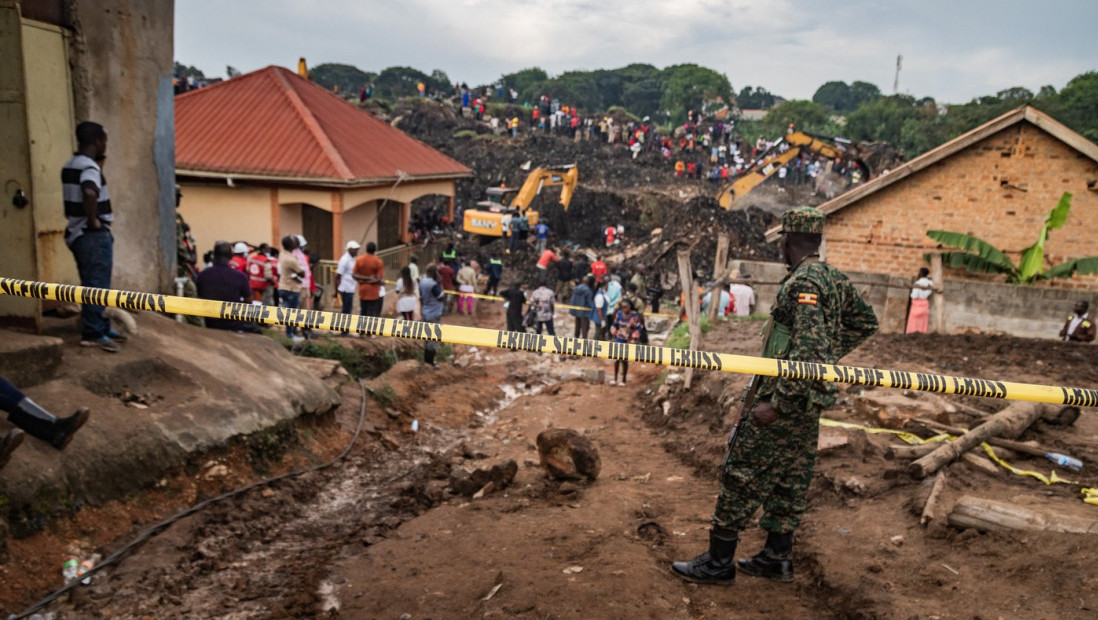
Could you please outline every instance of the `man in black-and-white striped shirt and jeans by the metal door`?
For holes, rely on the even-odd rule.
[[[111,193],[100,168],[107,158],[107,132],[99,123],[76,126],[78,150],[61,168],[65,201],[65,244],[72,251],[81,286],[111,288],[114,237]],[[80,311],[80,346],[99,347],[114,353],[125,337],[111,329],[103,306],[83,304]]]

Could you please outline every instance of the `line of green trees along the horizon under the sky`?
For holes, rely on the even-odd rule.
[[[194,67],[177,64],[188,72]],[[318,84],[355,98],[366,84],[372,97],[396,100],[418,94],[418,84],[428,93],[451,97],[455,83],[445,71],[424,72],[413,67],[389,67],[380,72],[363,71],[352,65],[327,63],[313,67],[310,78]],[[763,87],[747,86],[739,92],[724,74],[693,64],[663,69],[634,64],[618,69],[565,71],[550,76],[538,67],[505,74],[491,84],[477,84],[494,101],[535,105],[545,94],[562,104],[575,105],[583,114],[620,110],[664,127],[685,122],[691,110],[703,114],[726,105],[735,109],[769,110],[764,120],[738,121],[737,133],[744,140],[775,137],[792,123],[798,129],[854,140],[888,142],[905,157],[918,156],[1009,110],[1031,103],[1072,129],[1098,142],[1098,71],[1076,76],[1057,91],[1052,86],[1037,93],[1022,87],[978,97],[968,103],[940,104],[933,98],[910,94],[886,95],[865,81],[829,81],[810,100],[791,100]]]

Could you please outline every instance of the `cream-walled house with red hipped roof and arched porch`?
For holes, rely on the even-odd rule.
[[[321,258],[349,240],[408,240],[413,201],[472,171],[282,67],[176,97],[180,213],[200,250],[304,235]]]

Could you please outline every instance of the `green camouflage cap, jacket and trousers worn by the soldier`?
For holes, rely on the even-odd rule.
[[[821,233],[824,215],[794,210],[783,217],[793,233]],[[810,256],[781,282],[771,311],[764,357],[836,363],[877,329],[873,308],[839,270]],[[820,409],[834,404],[834,384],[765,377],[757,402],[770,401],[777,420],[763,426],[746,415],[725,461],[713,526],[742,531],[763,506],[759,525],[786,534],[800,523],[816,463]]]

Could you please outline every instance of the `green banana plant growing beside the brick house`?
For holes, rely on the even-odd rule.
[[[1032,284],[1038,280],[1071,278],[1075,273],[1086,275],[1098,273],[1098,257],[1076,258],[1050,269],[1044,268],[1044,244],[1049,233],[1062,228],[1072,211],[1072,194],[1064,192],[1055,208],[1044,216],[1044,226],[1037,243],[1022,250],[1021,261],[1016,266],[1007,255],[987,241],[950,230],[927,230],[931,239],[961,251],[942,252],[942,264],[954,269],[964,268],[974,273],[1005,273],[1007,282]],[[930,255],[927,255],[929,260]]]

